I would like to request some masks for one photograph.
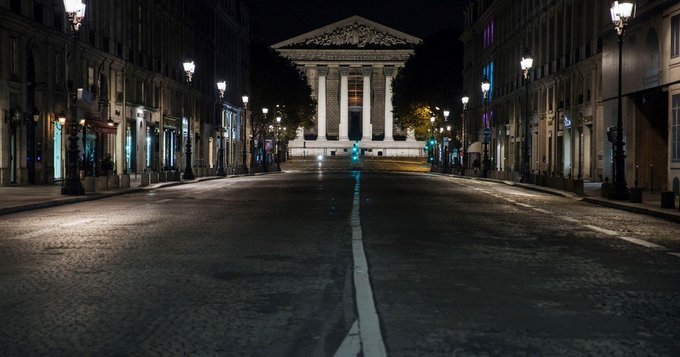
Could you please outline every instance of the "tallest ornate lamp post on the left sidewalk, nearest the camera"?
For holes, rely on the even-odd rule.
[[[73,53],[75,57],[76,49],[78,47],[78,30],[80,24],[85,17],[86,5],[81,0],[64,0],[64,10],[68,16],[69,24],[71,25],[71,35],[73,36]],[[73,76],[72,76],[73,80]],[[80,182],[80,175],[78,174],[78,120],[77,120],[77,91],[73,86],[71,90],[71,120],[69,122],[69,146],[68,146],[68,167],[66,169],[66,182],[61,188],[62,195],[84,195],[85,189]]]

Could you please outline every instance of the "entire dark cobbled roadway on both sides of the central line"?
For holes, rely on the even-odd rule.
[[[678,224],[313,166],[0,217],[0,355],[332,356],[357,187],[389,356],[680,354]]]

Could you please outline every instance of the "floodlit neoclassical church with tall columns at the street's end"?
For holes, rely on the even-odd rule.
[[[419,38],[352,16],[272,47],[304,71],[317,99],[315,127],[299,129],[293,156],[421,156],[423,142],[395,127],[392,79]]]

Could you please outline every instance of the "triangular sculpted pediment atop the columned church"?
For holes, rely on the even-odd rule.
[[[276,49],[409,49],[419,38],[353,16],[272,46]]]

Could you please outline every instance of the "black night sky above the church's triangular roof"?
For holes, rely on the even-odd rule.
[[[439,29],[463,28],[467,0],[249,0],[256,38],[287,40],[359,15],[424,39]]]

